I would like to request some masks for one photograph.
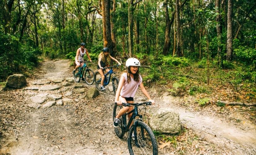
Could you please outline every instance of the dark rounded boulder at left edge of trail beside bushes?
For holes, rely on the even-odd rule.
[[[7,78],[6,86],[19,89],[27,85],[26,78],[22,74],[13,74]]]

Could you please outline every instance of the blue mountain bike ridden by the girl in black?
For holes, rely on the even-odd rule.
[[[113,71],[112,68],[118,67],[118,66],[119,66],[119,64],[117,64],[117,65],[115,65],[115,66],[103,68],[103,72],[104,72],[105,69],[110,69],[109,72],[107,72],[106,74],[104,74],[105,79],[104,79],[104,82],[103,82],[103,86],[108,85],[109,82],[110,82],[110,79],[111,79],[111,80],[112,80],[112,86],[113,86],[114,94],[116,93],[119,80],[118,80],[117,77],[115,77],[115,76],[113,76],[113,75],[111,76],[111,74],[115,74],[115,72]],[[98,90],[101,90],[101,74],[100,74],[99,72],[95,72],[95,85],[96,85],[96,87],[97,87]]]

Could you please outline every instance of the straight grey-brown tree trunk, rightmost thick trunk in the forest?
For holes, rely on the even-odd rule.
[[[232,60],[233,49],[232,49],[232,11],[233,11],[233,2],[228,0],[227,8],[227,61]]]

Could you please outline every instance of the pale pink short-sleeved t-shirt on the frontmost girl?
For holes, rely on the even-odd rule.
[[[120,95],[122,97],[134,97],[139,85],[142,82],[141,75],[139,76],[139,82],[134,81],[133,78],[131,77],[130,83],[127,82],[127,73],[123,73],[121,76],[124,77],[124,85],[121,89]]]

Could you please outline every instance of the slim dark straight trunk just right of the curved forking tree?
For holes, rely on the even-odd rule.
[[[179,0],[175,1],[175,11],[176,11],[176,28],[177,28],[177,57],[182,56],[181,44],[180,44],[180,8]]]

